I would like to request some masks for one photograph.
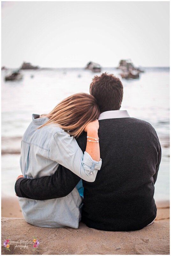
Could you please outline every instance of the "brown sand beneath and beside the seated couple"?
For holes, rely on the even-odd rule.
[[[27,248],[11,244],[8,252],[3,245],[8,236],[10,241],[30,241],[36,236],[40,245],[33,250],[33,244]],[[3,217],[2,254],[169,254],[169,222],[154,222],[137,231],[110,232],[83,223],[78,229],[40,228],[22,218]]]

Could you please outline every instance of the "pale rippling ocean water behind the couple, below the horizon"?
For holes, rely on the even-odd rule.
[[[144,68],[139,79],[124,80],[120,70],[103,68],[120,77],[123,88],[121,110],[143,119],[155,128],[162,147],[162,160],[155,184],[155,200],[169,199],[169,68]],[[50,112],[58,102],[77,92],[89,92],[95,75],[83,68],[23,70],[23,79],[5,82],[2,71],[2,195],[15,195],[20,175],[20,141],[32,114]],[[33,75],[33,78],[31,77]],[[97,73],[100,75],[100,73]]]

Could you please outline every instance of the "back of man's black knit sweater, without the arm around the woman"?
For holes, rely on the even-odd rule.
[[[82,221],[90,228],[138,230],[156,217],[154,183],[161,147],[151,124],[136,118],[99,121],[102,166],[93,183],[83,181]],[[86,133],[78,138],[85,150]]]

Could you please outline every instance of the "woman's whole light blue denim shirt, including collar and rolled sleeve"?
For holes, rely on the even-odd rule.
[[[39,118],[34,114],[32,118],[21,142],[20,167],[23,176],[34,179],[52,175],[61,164],[81,179],[93,182],[101,168],[101,158],[97,162],[87,152],[83,154],[75,138],[55,124],[37,129],[48,118]],[[77,188],[68,196],[50,200],[19,197],[19,204],[25,220],[30,224],[47,228],[78,228],[82,199]]]

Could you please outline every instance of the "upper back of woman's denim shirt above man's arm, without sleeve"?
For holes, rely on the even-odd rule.
[[[21,146],[20,167],[25,178],[40,178],[52,175],[58,163],[49,158],[50,143],[55,132],[63,132],[60,127],[50,124],[37,129],[48,121],[48,118],[32,116],[33,121],[24,133]],[[61,152],[56,152],[60,154]]]

